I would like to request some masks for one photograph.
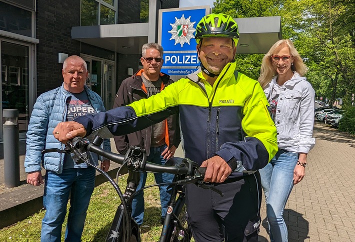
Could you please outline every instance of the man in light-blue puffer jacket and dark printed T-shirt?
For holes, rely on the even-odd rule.
[[[46,213],[42,220],[41,242],[61,241],[61,226],[69,194],[70,209],[65,241],[80,241],[95,181],[95,169],[86,163],[76,164],[70,154],[53,152],[42,157],[41,151],[64,148],[52,134],[59,122],[105,111],[100,96],[85,86],[88,72],[82,58],[76,55],[66,58],[62,75],[62,86],[37,98],[27,131],[24,160],[25,171],[28,173],[27,183],[33,186],[43,184],[41,164],[46,170],[43,195]],[[104,140],[104,149],[111,150],[109,139]],[[98,165],[96,154],[90,153],[89,158],[92,164]],[[107,171],[109,164],[109,160],[104,160],[101,168]]]

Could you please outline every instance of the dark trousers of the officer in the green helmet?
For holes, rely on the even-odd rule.
[[[224,196],[193,184],[186,186],[186,205],[195,242],[257,242],[261,205],[260,176],[213,184]]]

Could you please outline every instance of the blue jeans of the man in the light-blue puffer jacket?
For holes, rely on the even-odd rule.
[[[95,169],[63,169],[61,174],[47,171],[43,205],[41,242],[60,242],[61,226],[66,214],[70,194],[70,208],[65,231],[66,242],[80,242],[86,210],[95,185]]]

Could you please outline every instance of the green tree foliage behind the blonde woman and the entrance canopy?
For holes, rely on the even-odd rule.
[[[354,0],[216,0],[213,12],[233,17],[281,16],[289,38],[308,67],[317,99],[330,106],[355,93]],[[257,79],[262,55],[236,55],[237,70]]]

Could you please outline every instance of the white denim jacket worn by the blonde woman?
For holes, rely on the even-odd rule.
[[[274,76],[264,89],[266,98],[275,88],[277,76]],[[293,77],[279,87],[279,96],[275,114],[277,145],[295,153],[308,153],[315,144],[312,138],[314,124],[314,90],[305,77],[294,72]]]

